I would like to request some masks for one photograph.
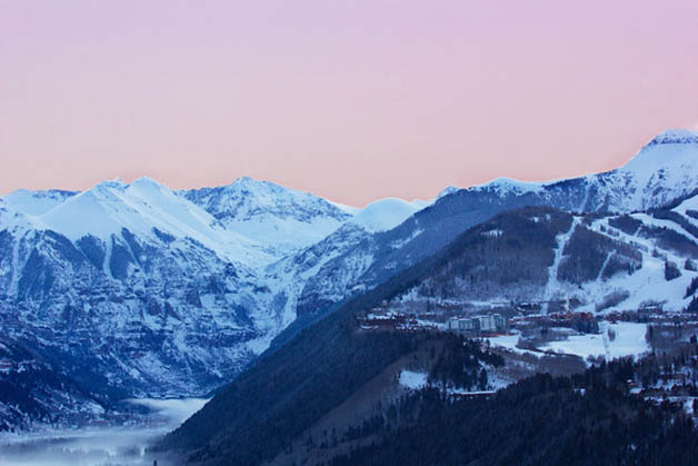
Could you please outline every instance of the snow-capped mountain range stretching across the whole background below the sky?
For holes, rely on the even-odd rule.
[[[660,241],[659,228],[692,244],[686,229],[694,225],[687,214],[694,201],[686,199],[697,189],[698,135],[670,130],[609,172],[540,184],[496,179],[447,188],[432,201],[383,199],[362,209],[251,178],[182,191],[148,178],[82,192],[14,191],[0,198],[0,337],[99,399],[202,395],[240,374],[275,338],[279,347],[500,212],[528,206],[564,216],[634,212],[631,221],[641,226],[622,235],[637,244]],[[680,219],[658,219],[654,210]],[[600,228],[587,229],[618,239]],[[564,248],[557,242],[564,232],[570,240],[571,226],[549,245],[558,267],[564,258],[554,249]],[[604,252],[617,251],[599,241]],[[666,246],[667,261],[695,258],[681,239],[666,241],[680,249]],[[651,249],[618,252],[619,275],[609,277],[628,276],[624,270],[635,267],[637,254],[647,264]],[[604,280],[608,264],[594,280],[576,269],[582,275],[568,281],[559,280],[559,269],[547,274],[547,264],[522,298],[594,282],[599,300],[616,288]],[[630,281],[618,286],[637,285]],[[478,295],[502,297],[512,298]],[[668,303],[678,307],[682,299]]]

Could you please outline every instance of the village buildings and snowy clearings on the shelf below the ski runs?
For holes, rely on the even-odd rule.
[[[601,313],[576,311],[574,307],[569,300],[550,300],[429,305],[426,309],[383,301],[359,314],[358,321],[360,331],[456,334],[502,356],[502,368],[488,368],[492,371],[488,390],[473,395],[493,394],[537,371],[570,375],[629,358],[648,369],[646,376],[627,380],[628,394],[677,403],[698,415],[698,409],[694,412],[694,403],[698,404],[698,315],[667,311],[656,304]],[[425,310],[416,311],[418,308]],[[417,373],[407,374],[415,378]]]

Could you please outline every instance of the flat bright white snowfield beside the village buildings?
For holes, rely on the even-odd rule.
[[[561,341],[550,341],[540,347],[541,350],[552,350],[576,355],[581,358],[589,356],[604,356],[615,359],[625,356],[641,356],[650,350],[645,339],[646,324],[636,323],[601,323],[601,334],[572,335]],[[609,338],[608,330],[615,333],[615,338]]]

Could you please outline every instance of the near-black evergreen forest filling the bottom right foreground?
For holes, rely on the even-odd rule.
[[[571,378],[538,375],[491,398],[435,389],[403,400],[409,425],[331,462],[345,465],[692,465],[698,430],[677,404],[628,396],[629,361]]]

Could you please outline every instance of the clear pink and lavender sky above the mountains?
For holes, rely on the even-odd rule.
[[[697,57],[695,0],[0,0],[0,195],[605,171],[698,129]]]

